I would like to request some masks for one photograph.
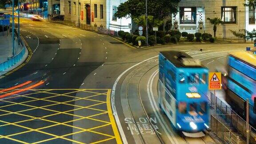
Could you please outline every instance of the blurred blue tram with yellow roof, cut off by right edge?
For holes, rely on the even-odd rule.
[[[248,99],[250,124],[256,127],[256,55],[251,52],[230,53],[226,79],[227,103],[245,120]]]

